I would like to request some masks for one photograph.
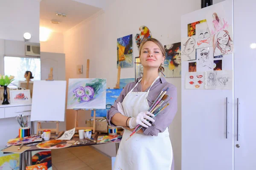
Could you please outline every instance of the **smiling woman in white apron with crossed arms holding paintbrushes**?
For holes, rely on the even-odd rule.
[[[163,45],[158,40],[144,40],[139,54],[144,68],[143,77],[125,86],[107,115],[111,126],[122,126],[125,129],[113,169],[170,170],[172,167],[173,170],[168,127],[177,112],[177,89],[158,76],[158,70],[163,69],[161,63],[165,59]],[[169,106],[154,117],[148,109],[163,88],[169,88],[166,101],[172,99],[169,100]],[[123,109],[118,109],[120,104]],[[126,141],[137,125],[142,125],[143,128]]]

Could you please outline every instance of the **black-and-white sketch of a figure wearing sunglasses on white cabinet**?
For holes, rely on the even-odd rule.
[[[213,70],[213,48],[205,47],[196,49],[196,70]]]

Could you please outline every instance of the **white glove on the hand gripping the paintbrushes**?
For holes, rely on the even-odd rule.
[[[143,127],[146,127],[148,128],[148,126],[151,126],[151,124],[146,121],[145,119],[148,119],[149,121],[151,122],[154,122],[155,120],[151,117],[154,117],[154,114],[148,112],[148,111],[143,111],[143,112],[140,112],[136,118],[132,117],[130,120],[129,120],[129,127],[131,129],[135,128],[137,125],[142,125]]]

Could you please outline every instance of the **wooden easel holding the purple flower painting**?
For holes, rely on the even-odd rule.
[[[86,78],[89,78],[89,66],[90,66],[90,60],[87,59],[87,67],[86,67]],[[79,127],[78,126],[78,111],[82,109],[74,109],[76,111],[75,114],[75,128],[76,128],[76,133],[78,130],[84,130],[84,129],[91,129],[93,130],[93,135],[95,136],[97,132],[95,132],[95,122],[96,122],[96,110],[93,110],[93,127]],[[79,134],[75,134],[74,136],[79,136]]]

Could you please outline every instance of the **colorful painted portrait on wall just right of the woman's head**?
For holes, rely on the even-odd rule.
[[[180,42],[164,45],[164,74],[166,77],[181,77],[181,46]]]

